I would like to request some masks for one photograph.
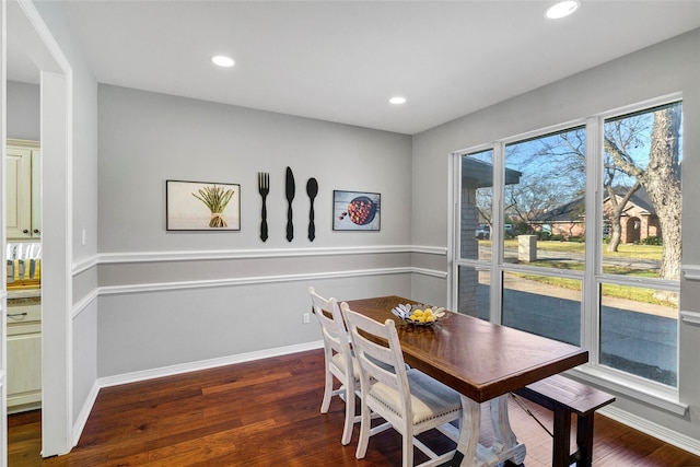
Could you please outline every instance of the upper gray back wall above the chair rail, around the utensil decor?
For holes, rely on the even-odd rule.
[[[109,85],[100,86],[100,250],[168,252],[410,244],[410,137]],[[296,182],[284,238],[284,171]],[[259,240],[257,173],[270,173]],[[306,238],[308,177],[319,184]],[[241,184],[241,232],[165,231],[165,180]],[[331,231],[334,189],[382,194],[378,233]]]

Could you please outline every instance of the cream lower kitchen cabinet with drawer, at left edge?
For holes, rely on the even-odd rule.
[[[8,303],[8,412],[42,406],[42,304]]]

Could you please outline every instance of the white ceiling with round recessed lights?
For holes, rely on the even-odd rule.
[[[700,27],[689,0],[61,3],[102,83],[409,135]]]

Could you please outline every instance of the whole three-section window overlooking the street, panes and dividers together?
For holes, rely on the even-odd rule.
[[[675,387],[681,115],[666,102],[460,153],[458,311]]]

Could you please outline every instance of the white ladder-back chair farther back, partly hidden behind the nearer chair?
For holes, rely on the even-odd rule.
[[[360,371],[353,363],[350,341],[346,325],[338,307],[336,299],[324,299],[318,295],[313,287],[308,288],[314,314],[320,324],[320,332],[324,339],[326,384],[324,399],[320,402],[320,412],[328,413],[330,399],[339,396],[346,402],[346,420],[342,428],[343,445],[350,443],[352,427],[355,421],[355,394],[359,395]],[[334,376],[340,382],[340,387],[334,389]]]

